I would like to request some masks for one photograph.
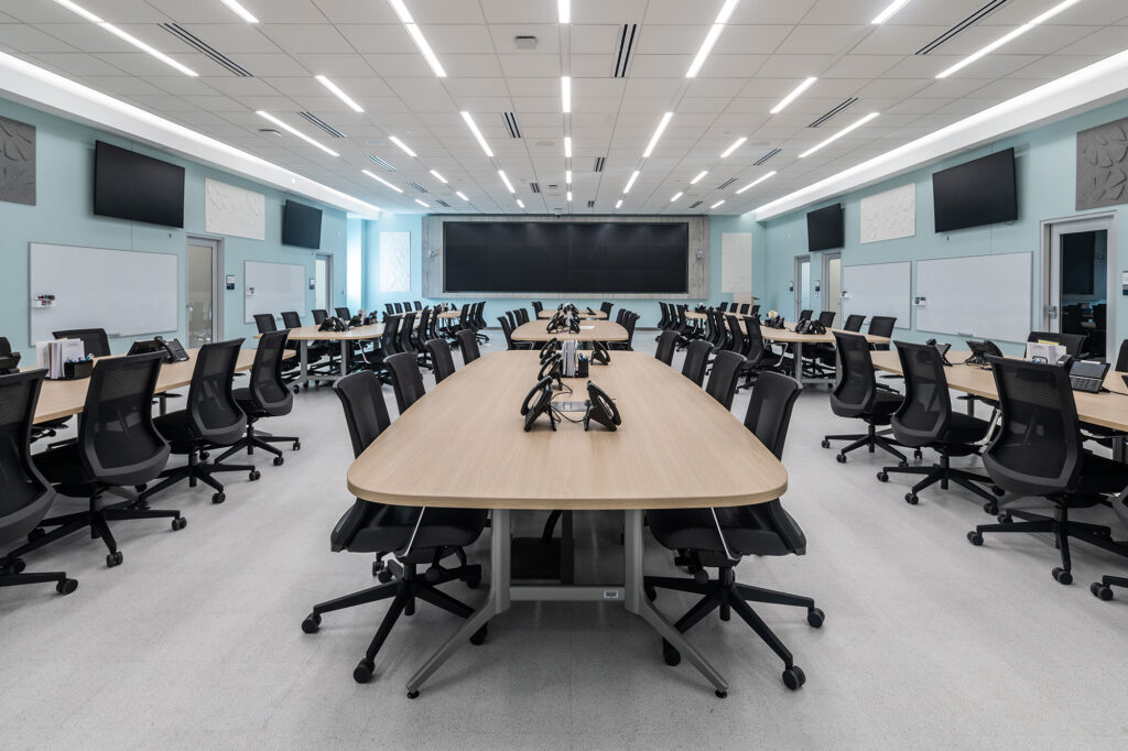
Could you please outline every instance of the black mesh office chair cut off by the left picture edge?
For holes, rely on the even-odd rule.
[[[38,529],[55,501],[55,489],[32,461],[32,421],[46,372],[39,369],[0,376],[0,550]],[[0,586],[54,582],[59,594],[78,589],[78,582],[67,574],[25,574],[25,567],[23,558],[0,553]]]

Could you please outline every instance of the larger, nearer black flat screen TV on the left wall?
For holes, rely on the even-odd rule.
[[[184,227],[184,168],[96,141],[94,213]]]

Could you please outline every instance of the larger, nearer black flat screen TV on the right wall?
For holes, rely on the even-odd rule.
[[[1006,149],[932,176],[936,231],[1019,219],[1014,149]]]

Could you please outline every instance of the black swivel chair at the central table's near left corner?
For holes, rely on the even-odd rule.
[[[341,398],[349,435],[352,438],[353,454],[359,457],[391,422],[380,381],[371,372],[359,372],[337,381],[333,390]],[[439,590],[438,585],[456,578],[466,582],[472,589],[481,583],[482,567],[466,565],[462,548],[481,537],[485,523],[485,511],[391,506],[358,498],[334,527],[329,537],[332,550],[365,555],[374,553],[380,558],[394,553],[396,557],[386,564],[378,560],[378,565],[373,566],[381,584],[314,606],[312,612],[302,621],[301,630],[316,634],[324,613],[390,599],[391,607],[364,659],[353,671],[353,679],[358,683],[369,682],[376,672],[376,656],[380,647],[400,615],[414,615],[416,599],[460,618],[468,618],[474,612],[470,607]],[[461,565],[443,568],[441,560],[451,555],[458,555]],[[417,573],[420,565],[429,566],[424,575]],[[470,637],[470,642],[478,645],[485,638],[486,626],[482,626]]]

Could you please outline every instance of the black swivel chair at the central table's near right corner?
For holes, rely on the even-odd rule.
[[[802,390],[792,378],[779,373],[764,373],[748,403],[744,426],[751,431],[777,459],[783,458],[787,427],[795,399]],[[693,578],[646,576],[646,597],[654,600],[659,589],[690,592],[702,600],[684,615],[673,627],[685,634],[714,610],[721,610],[721,620],[729,620],[737,611],[756,634],[784,662],[784,684],[795,690],[807,677],[787,647],[767,624],[752,610],[750,602],[791,606],[807,609],[807,622],[821,628],[826,615],[814,607],[814,600],[797,594],[737,583],[733,568],[746,557],[804,555],[807,538],[779,500],[731,509],[677,509],[647,511],[650,531],[663,547],[679,551],[676,560],[693,572]],[[706,568],[716,568],[717,576],[710,580]],[[681,662],[681,655],[662,639],[662,653],[668,665]]]

